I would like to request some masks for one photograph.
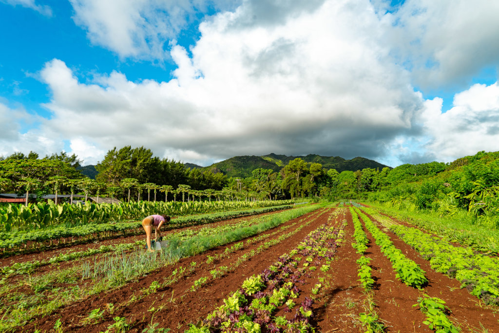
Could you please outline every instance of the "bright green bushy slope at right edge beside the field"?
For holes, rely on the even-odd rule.
[[[481,151],[449,164],[404,164],[391,170],[386,181],[379,191],[359,195],[441,216],[466,212],[477,223],[499,227],[499,152]]]

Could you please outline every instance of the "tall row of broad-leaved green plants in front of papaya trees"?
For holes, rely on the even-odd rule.
[[[88,223],[107,223],[138,219],[143,216],[162,212],[171,216],[186,216],[223,212],[228,210],[258,208],[269,206],[291,205],[291,200],[279,201],[190,201],[190,202],[151,202],[97,204],[86,202],[55,205],[48,203],[31,203],[27,206],[8,204],[0,206],[0,231],[32,231],[38,229],[65,228],[81,226]]]

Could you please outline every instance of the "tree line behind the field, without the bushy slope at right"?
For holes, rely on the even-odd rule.
[[[212,197],[236,200],[354,197],[381,186],[389,168],[336,172],[320,163],[291,160],[280,171],[253,170],[250,177],[186,168],[180,161],[154,156],[150,149],[125,146],[109,150],[96,166],[92,180],[77,169],[81,161],[65,152],[40,158],[29,152],[0,157],[2,192],[37,194],[79,193],[121,200],[176,201]]]

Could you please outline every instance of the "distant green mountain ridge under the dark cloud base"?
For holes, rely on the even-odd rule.
[[[387,165],[364,157],[355,157],[351,160],[346,160],[339,156],[321,156],[316,154],[308,154],[306,156],[287,156],[277,155],[274,153],[263,156],[235,156],[207,167],[201,167],[193,163],[185,163],[185,165],[189,168],[199,168],[202,171],[210,170],[214,173],[222,172],[229,177],[249,177],[251,176],[251,172],[253,170],[259,168],[271,169],[274,172],[277,172],[288,164],[289,161],[292,161],[295,158],[301,158],[307,162],[309,166],[312,163],[320,163],[325,169],[335,169],[338,172],[357,171],[365,168],[379,168],[381,170],[388,167]]]

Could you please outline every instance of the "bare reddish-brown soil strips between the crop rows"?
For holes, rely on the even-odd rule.
[[[125,317],[128,323],[131,323],[130,332],[142,332],[150,323],[159,323],[158,328],[170,328],[172,329],[171,332],[184,332],[189,323],[196,323],[198,320],[206,318],[215,307],[221,305],[223,299],[240,288],[245,279],[253,274],[261,273],[274,263],[279,256],[296,247],[310,231],[326,223],[329,214],[333,210],[330,209],[326,214],[320,215],[308,226],[303,227],[299,232],[283,240],[278,245],[271,246],[260,254],[256,254],[250,260],[243,262],[235,271],[215,281],[211,280],[196,292],[189,291],[190,287],[194,281],[202,277],[210,277],[210,270],[215,267],[230,266],[238,258],[250,253],[251,250],[255,250],[269,239],[275,239],[282,234],[295,230],[307,221],[313,220],[313,216],[317,216],[317,214],[308,214],[302,222],[294,226],[292,224],[303,217],[286,222],[281,225],[281,227],[290,226],[286,230],[276,227],[255,236],[275,233],[268,239],[250,243],[249,245],[245,240],[242,249],[231,254],[230,257],[223,257],[217,263],[207,264],[206,260],[208,256],[223,253],[226,248],[231,247],[234,243],[190,258],[184,258],[176,264],[151,272],[147,276],[138,278],[121,288],[69,304],[47,317],[35,319],[25,328],[19,329],[18,332],[32,332],[35,328],[40,332],[52,331],[57,319],[60,319],[63,323],[64,332],[101,332],[106,331],[107,327],[114,323],[112,318],[117,316]],[[340,215],[337,219],[343,219],[343,217]],[[346,219],[348,225],[345,229],[344,241],[337,250],[335,260],[330,265],[331,269],[325,275],[320,273],[322,276],[327,277],[328,283],[325,284],[321,293],[317,296],[314,305],[316,332],[365,331],[358,320],[358,314],[365,312],[364,306],[367,306],[366,294],[357,281],[357,264],[355,261],[360,255],[355,253],[351,247],[354,228],[349,212],[346,214]],[[366,232],[370,243],[365,256],[372,258],[372,275],[376,281],[373,289],[374,309],[387,327],[386,332],[432,332],[423,324],[425,317],[421,311],[417,307],[413,307],[417,303],[417,299],[423,294],[443,299],[452,311],[451,319],[461,324],[463,332],[472,329],[482,332],[480,325],[483,325],[490,333],[499,332],[498,307],[480,306],[476,297],[470,295],[466,289],[459,289],[460,284],[458,281],[434,272],[428,262],[420,258],[416,251],[392,233],[387,232],[387,234],[397,248],[401,249],[409,259],[414,260],[426,271],[426,277],[430,283],[423,291],[419,291],[398,281],[395,278],[391,263],[381,254],[379,246],[374,243],[370,233]],[[147,289],[153,281],[162,283],[164,279],[171,276],[175,269],[190,267],[193,262],[197,263],[195,269],[181,280],[159,289],[155,294],[133,301],[134,297],[143,295],[141,290]],[[303,291],[300,299],[307,296],[307,294],[309,295],[309,290],[315,282],[316,280],[311,278],[307,280],[306,285],[300,286]],[[95,325],[83,326],[81,324],[82,319],[87,317],[90,311],[97,308],[104,310],[109,303],[113,303],[116,308],[113,314],[106,311],[102,322]],[[163,307],[163,309],[154,312],[150,311],[152,307],[155,310],[158,307]],[[281,313],[277,315],[281,315]]]

